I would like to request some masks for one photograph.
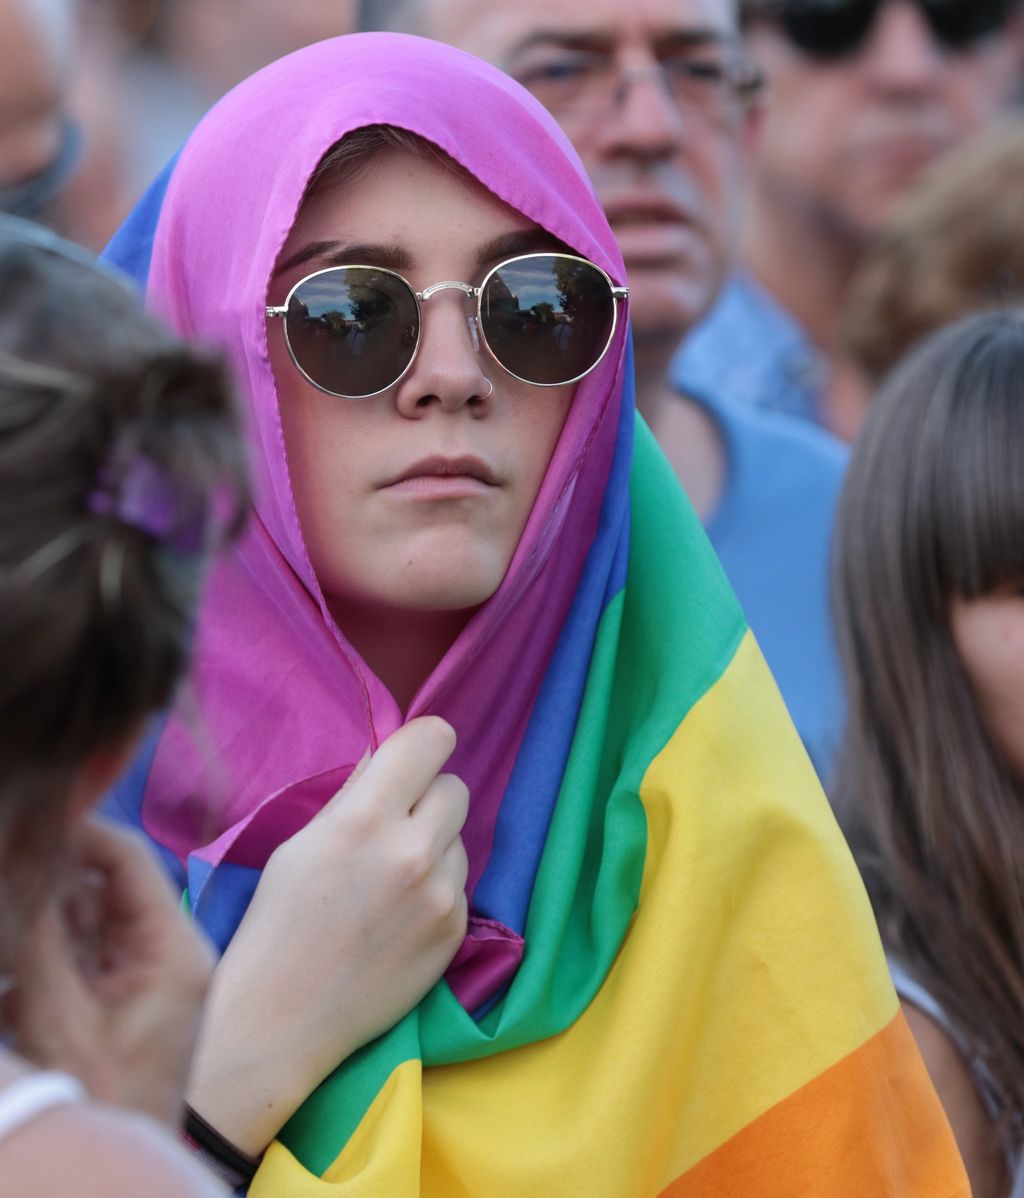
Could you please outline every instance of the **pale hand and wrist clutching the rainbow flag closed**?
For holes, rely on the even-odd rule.
[[[271,857],[214,972],[188,1097],[257,1156],[320,1082],[437,981],[466,931],[455,733],[399,728]]]

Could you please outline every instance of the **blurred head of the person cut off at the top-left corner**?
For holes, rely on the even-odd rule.
[[[40,219],[77,165],[72,41],[66,0],[0,0],[0,212]]]

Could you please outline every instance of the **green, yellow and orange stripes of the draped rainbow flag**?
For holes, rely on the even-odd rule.
[[[521,751],[571,736],[517,975],[477,1019],[442,981],[345,1061],[254,1198],[969,1194],[847,847],[642,425],[630,486]],[[553,679],[602,576],[566,728]]]

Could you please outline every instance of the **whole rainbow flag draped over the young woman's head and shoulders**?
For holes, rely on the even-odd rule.
[[[222,945],[272,849],[402,720],[310,569],[263,317],[311,171],[381,122],[623,282],[539,105],[468,55],[390,35],[323,42],[237,87],[116,243],[138,266],[152,241],[151,307],[223,345],[249,404],[255,513],[196,635],[205,744],[172,716],[119,795],[184,864]],[[469,934],[309,1097],[253,1194],[968,1193],[813,770],[635,420],[624,331],[577,388],[504,582],[408,715],[428,712],[458,730],[449,768],[472,795]]]

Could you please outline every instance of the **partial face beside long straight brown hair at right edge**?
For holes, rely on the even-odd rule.
[[[955,599],[951,621],[988,733],[1024,780],[1024,594]]]

